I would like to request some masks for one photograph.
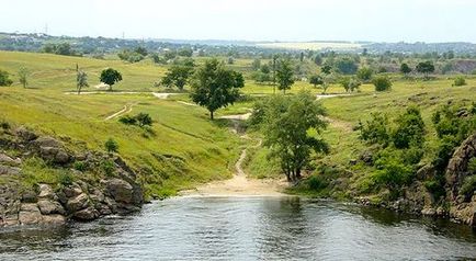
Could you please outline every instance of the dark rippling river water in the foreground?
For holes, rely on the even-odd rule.
[[[476,260],[476,231],[299,197],[175,197],[135,215],[0,229],[0,260]]]

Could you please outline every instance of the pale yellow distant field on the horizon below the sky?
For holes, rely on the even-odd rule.
[[[332,43],[332,42],[287,42],[287,43],[264,43],[257,44],[260,47],[276,48],[276,49],[338,49],[338,50],[352,50],[361,48],[361,44],[353,43]]]

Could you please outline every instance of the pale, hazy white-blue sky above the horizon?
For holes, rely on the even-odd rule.
[[[0,32],[476,43],[476,0],[0,0]]]

